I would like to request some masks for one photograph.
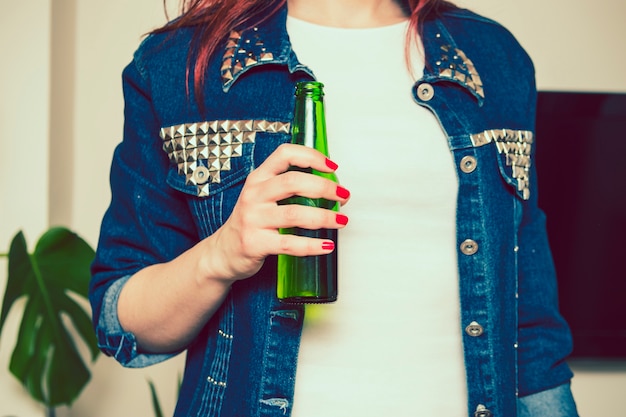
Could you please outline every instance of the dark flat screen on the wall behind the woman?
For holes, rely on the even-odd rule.
[[[539,206],[575,358],[626,358],[626,94],[540,92]]]

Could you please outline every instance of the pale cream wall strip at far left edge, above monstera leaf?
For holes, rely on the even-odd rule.
[[[23,229],[29,241],[47,224],[50,0],[4,2],[0,14],[0,253]],[[26,30],[28,28],[28,30]],[[16,43],[16,39],[20,39]],[[0,259],[0,294],[7,263]],[[0,339],[0,416],[41,416],[8,374],[19,317],[12,314]],[[15,400],[14,400],[15,399]]]

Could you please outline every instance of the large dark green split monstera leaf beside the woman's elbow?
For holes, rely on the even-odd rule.
[[[90,378],[71,334],[80,335],[92,361],[98,355],[91,320],[77,302],[87,297],[94,251],[75,233],[59,227],[48,230],[32,254],[19,232],[8,257],[0,334],[15,301],[25,298],[9,369],[35,400],[47,407],[69,405]]]

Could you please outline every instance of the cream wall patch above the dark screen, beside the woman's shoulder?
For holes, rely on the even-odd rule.
[[[530,53],[543,90],[626,92],[624,0],[460,0],[507,26]]]

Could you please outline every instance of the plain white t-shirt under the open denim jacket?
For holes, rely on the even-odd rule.
[[[342,29],[287,20],[324,83],[328,146],[350,218],[339,299],[307,306],[294,417],[467,415],[456,261],[457,178],[437,118],[415,103],[408,23]]]

